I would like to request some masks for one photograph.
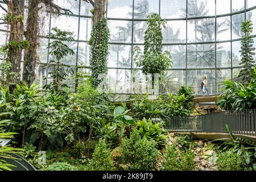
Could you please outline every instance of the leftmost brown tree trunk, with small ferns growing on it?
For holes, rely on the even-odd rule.
[[[15,17],[23,16],[24,17],[24,0],[13,0],[9,1],[9,12],[13,14]],[[10,22],[10,38],[9,42],[22,42],[23,34],[24,34],[24,27],[23,27],[23,20],[17,19]],[[18,76],[11,80],[12,82],[19,83],[20,81],[20,63],[22,59],[22,48],[18,47],[10,47],[9,48],[9,58],[13,67],[11,68],[11,72],[18,73]]]

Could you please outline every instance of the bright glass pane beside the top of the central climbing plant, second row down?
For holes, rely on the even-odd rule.
[[[186,42],[186,21],[168,21],[166,28],[163,28],[163,43],[185,43]]]

